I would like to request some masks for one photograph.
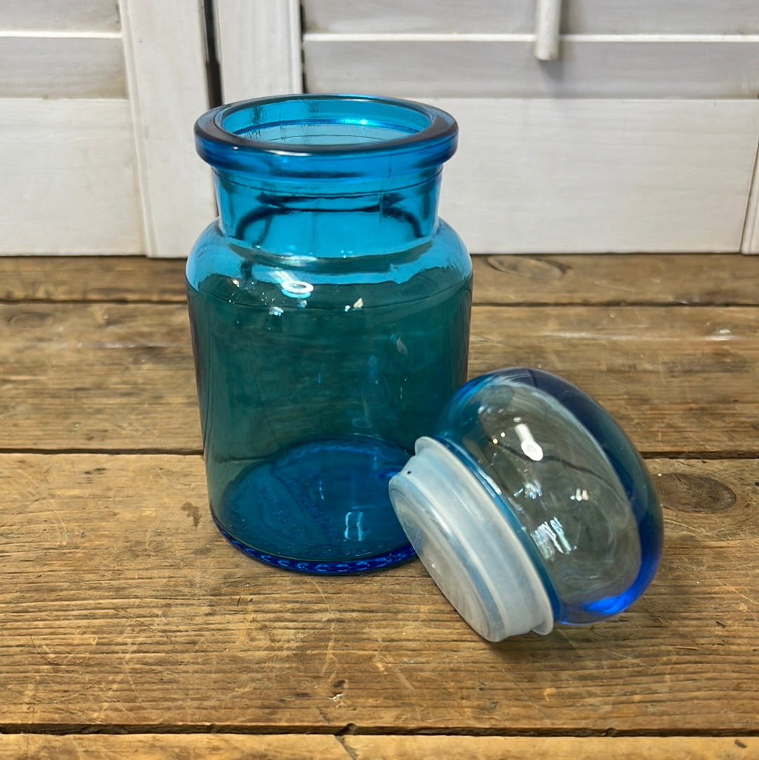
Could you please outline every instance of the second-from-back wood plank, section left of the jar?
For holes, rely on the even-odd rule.
[[[0,366],[0,448],[198,448],[183,305],[0,305]]]

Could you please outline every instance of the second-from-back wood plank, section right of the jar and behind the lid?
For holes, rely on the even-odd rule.
[[[595,396],[648,454],[759,451],[757,309],[474,312],[470,374],[538,366]],[[757,358],[755,359],[754,356]]]

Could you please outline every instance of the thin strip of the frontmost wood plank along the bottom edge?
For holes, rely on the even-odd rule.
[[[0,760],[751,760],[755,736],[241,736],[0,734]]]

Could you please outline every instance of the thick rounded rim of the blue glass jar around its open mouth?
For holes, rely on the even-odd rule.
[[[306,94],[212,109],[195,123],[195,142],[218,168],[255,170],[263,161],[269,169],[297,171],[308,161],[324,169],[353,159],[368,162],[353,167],[353,174],[367,176],[378,168],[373,159],[388,156],[405,155],[418,169],[439,165],[454,153],[457,131],[450,114],[410,100]]]

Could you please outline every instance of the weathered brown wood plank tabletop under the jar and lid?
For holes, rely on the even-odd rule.
[[[666,518],[631,610],[502,644],[217,534],[182,267],[0,259],[0,760],[759,757],[759,260],[476,259],[472,374],[596,396]]]

